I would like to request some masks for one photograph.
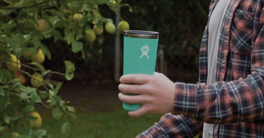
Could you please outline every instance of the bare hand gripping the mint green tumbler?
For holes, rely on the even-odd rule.
[[[129,116],[138,117],[146,113],[168,113],[173,109],[175,83],[165,75],[155,72],[154,75],[129,74],[120,78],[118,88],[122,93],[133,93],[129,96],[118,94],[125,103],[139,103],[141,108],[129,111]],[[131,85],[133,83],[133,85]]]

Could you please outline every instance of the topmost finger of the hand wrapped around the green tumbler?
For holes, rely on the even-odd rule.
[[[122,84],[145,84],[149,79],[152,79],[153,75],[146,75],[146,74],[129,74],[123,75],[119,79],[120,83]]]

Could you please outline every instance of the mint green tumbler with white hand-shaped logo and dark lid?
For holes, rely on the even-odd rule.
[[[127,30],[124,33],[124,75],[149,74],[154,75],[157,49],[158,32]],[[131,84],[136,85],[136,84]],[[134,95],[134,94],[127,94]],[[123,108],[135,111],[140,104],[123,103]]]

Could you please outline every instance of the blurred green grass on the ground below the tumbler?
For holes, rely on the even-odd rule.
[[[160,114],[147,114],[142,117],[133,118],[128,112],[117,110],[110,113],[80,114],[77,120],[70,122],[69,138],[133,138],[144,130],[148,129],[159,120]],[[51,138],[66,138],[61,132],[61,125],[64,119],[44,118],[40,129],[47,130]],[[11,133],[4,134],[8,137]],[[18,133],[23,134],[23,129]]]

